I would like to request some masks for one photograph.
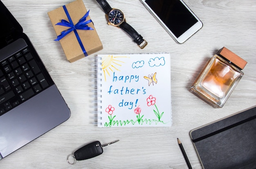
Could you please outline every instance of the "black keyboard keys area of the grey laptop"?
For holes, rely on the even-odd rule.
[[[0,62],[0,116],[49,87],[28,47]]]

